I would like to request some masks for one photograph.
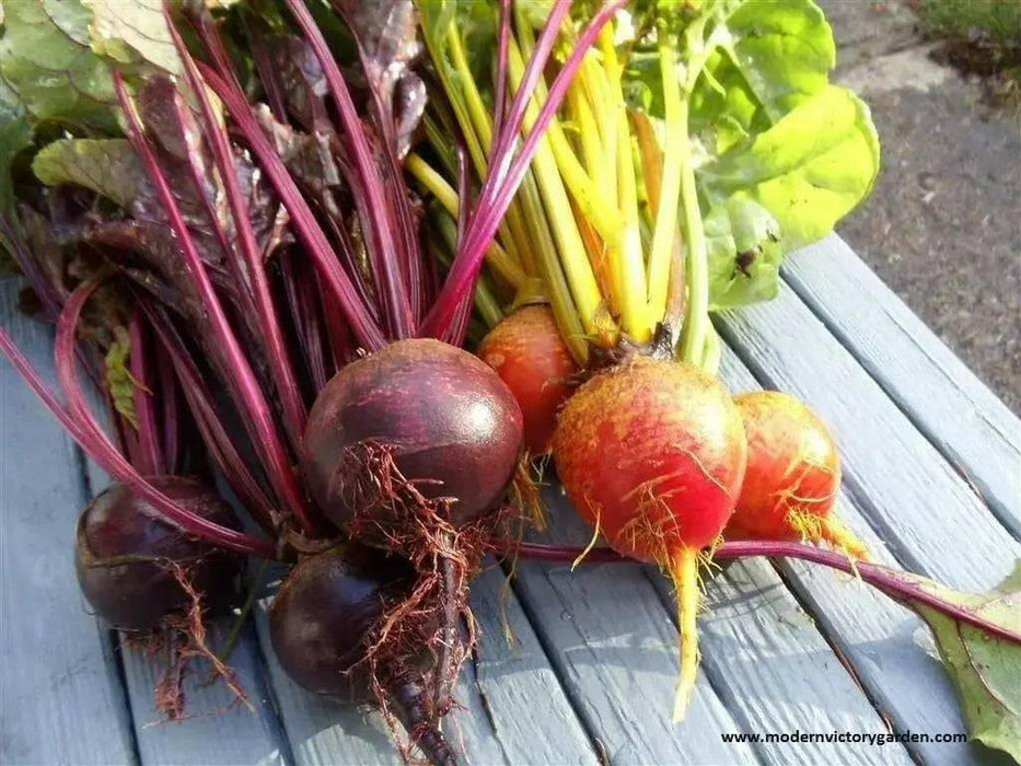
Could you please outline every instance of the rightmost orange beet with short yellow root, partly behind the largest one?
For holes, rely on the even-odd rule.
[[[840,455],[825,423],[802,402],[776,391],[734,397],[749,460],[728,538],[825,541],[855,558],[865,545],[833,513]]]

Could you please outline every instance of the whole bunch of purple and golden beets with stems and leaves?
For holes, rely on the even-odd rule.
[[[869,564],[833,513],[825,425],[716,378],[710,310],[775,292],[791,232],[828,231],[878,170],[867,109],[825,78],[769,119],[726,114],[720,81],[750,88],[731,69],[768,67],[781,23],[740,2],[638,3],[618,51],[623,0],[581,18],[569,0],[281,4],[166,11],[176,74],[113,73],[127,138],[49,143],[33,163],[47,186],[10,211],[0,199],[30,307],[56,324],[62,397],[2,329],[0,350],[115,479],[78,525],[100,616],[174,631],[241,696],[202,619],[239,603],[245,557],[285,562],[269,613],[285,670],[378,707],[405,755],[438,764],[455,761],[441,722],[488,552],[659,565],[677,590],[678,719],[713,559],[805,558],[938,637],[949,619],[1021,639],[966,594]],[[814,20],[803,34],[829,34],[791,4]],[[465,53],[478,28],[491,70]],[[734,170],[768,164],[758,139],[782,143],[820,109],[849,131],[833,146],[867,158],[838,202],[788,209],[741,187],[814,162]],[[743,143],[723,136],[745,117]],[[696,162],[696,141],[719,155]],[[794,217],[812,204],[807,229]],[[477,357],[460,348],[475,341]],[[521,542],[542,518],[531,459],[547,454],[612,549]]]

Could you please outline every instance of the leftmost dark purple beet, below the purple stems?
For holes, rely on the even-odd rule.
[[[240,529],[234,512],[205,485],[181,476],[147,480],[193,513]],[[222,608],[236,593],[236,555],[185,535],[124,485],[111,486],[81,512],[74,548],[78,582],[96,613],[114,627],[153,630],[165,615],[189,605],[170,561],[186,568],[207,608]]]

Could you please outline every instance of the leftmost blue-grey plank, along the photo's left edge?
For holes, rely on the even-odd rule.
[[[0,322],[50,382],[53,339],[0,281]],[[108,631],[74,574],[85,502],[74,444],[0,361],[0,763],[134,763],[128,710]]]

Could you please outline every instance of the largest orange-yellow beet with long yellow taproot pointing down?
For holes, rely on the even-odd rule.
[[[659,564],[677,590],[680,720],[695,685],[699,552],[717,541],[744,476],[741,416],[717,381],[638,358],[567,401],[553,457],[575,509],[620,554]]]

